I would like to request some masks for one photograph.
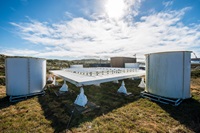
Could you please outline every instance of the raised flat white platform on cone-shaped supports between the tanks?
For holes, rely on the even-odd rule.
[[[110,81],[145,75],[144,70],[135,68],[68,68],[50,70],[54,75],[76,85],[77,87],[100,84]]]

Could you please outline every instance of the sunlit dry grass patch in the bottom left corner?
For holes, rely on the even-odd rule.
[[[9,103],[5,98],[0,105],[0,132],[53,132],[50,121],[45,119],[38,97],[32,97],[18,103]]]

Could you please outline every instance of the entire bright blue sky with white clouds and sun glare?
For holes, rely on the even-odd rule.
[[[200,0],[0,0],[0,54],[71,60],[182,50],[200,57]]]

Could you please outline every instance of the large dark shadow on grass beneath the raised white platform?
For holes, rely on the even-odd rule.
[[[137,87],[139,80],[125,80],[128,92],[132,92],[132,96],[122,96],[117,94],[119,84],[112,82],[101,84],[98,86],[84,87],[85,94],[90,102],[100,106],[92,111],[84,114],[75,112],[69,128],[78,127],[81,123],[92,121],[94,118],[106,114],[114,109],[120,108],[130,102],[136,101],[140,98],[141,89]],[[71,111],[73,110],[73,103],[79,94],[80,88],[67,83],[70,92],[66,95],[56,96],[54,91],[58,91],[59,87],[49,88],[46,90],[46,95],[39,97],[39,102],[43,108],[46,119],[51,121],[51,126],[55,132],[64,132],[67,128]]]

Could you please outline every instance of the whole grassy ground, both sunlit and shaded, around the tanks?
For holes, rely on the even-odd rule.
[[[0,132],[200,132],[200,78],[191,79],[192,98],[178,107],[152,102],[140,97],[139,80],[125,80],[133,96],[116,93],[120,84],[112,82],[101,87],[86,86],[88,100],[99,105],[84,114],[74,112],[73,102],[79,88],[69,84],[68,94],[56,96],[59,87],[49,87],[46,95],[10,103],[5,86],[0,86]]]

